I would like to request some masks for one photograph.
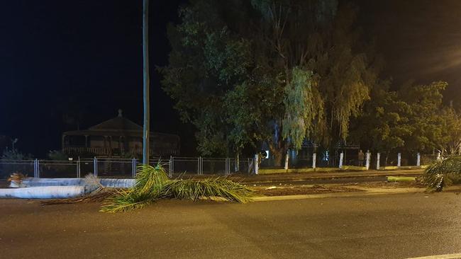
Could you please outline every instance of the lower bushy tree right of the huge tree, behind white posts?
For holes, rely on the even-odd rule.
[[[406,153],[455,151],[460,144],[461,121],[442,104],[445,82],[405,84],[389,91],[389,82],[373,88],[371,100],[355,120],[351,139],[374,151]]]

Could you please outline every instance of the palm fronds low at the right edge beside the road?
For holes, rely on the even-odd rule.
[[[423,182],[437,192],[448,185],[461,183],[461,156],[450,156],[428,166]]]

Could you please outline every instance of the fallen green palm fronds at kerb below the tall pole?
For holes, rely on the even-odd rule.
[[[126,212],[140,209],[162,198],[199,200],[222,197],[231,202],[250,202],[252,190],[226,178],[170,180],[161,163],[138,168],[133,188],[120,190],[101,207],[101,212]]]

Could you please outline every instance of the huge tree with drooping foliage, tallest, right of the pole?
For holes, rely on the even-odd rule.
[[[377,80],[355,10],[335,0],[196,0],[179,15],[163,86],[202,154],[337,144]]]

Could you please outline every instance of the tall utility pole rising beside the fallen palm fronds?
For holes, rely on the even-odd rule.
[[[144,94],[144,128],[143,128],[143,163],[149,164],[149,0],[143,0],[143,94]]]

